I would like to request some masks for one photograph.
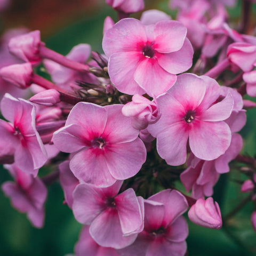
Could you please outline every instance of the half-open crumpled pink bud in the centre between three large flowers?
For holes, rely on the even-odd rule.
[[[132,101],[122,108],[123,115],[131,117],[135,129],[146,129],[149,124],[154,124],[160,118],[157,102],[150,101],[142,95],[135,94]]]

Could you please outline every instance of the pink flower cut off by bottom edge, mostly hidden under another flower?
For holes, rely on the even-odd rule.
[[[89,233],[90,226],[84,226],[75,245],[76,256],[119,256],[114,248],[97,244]]]

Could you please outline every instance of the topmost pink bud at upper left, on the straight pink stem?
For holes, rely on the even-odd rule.
[[[41,42],[40,31],[35,30],[30,33],[13,37],[9,42],[9,51],[21,60],[37,63],[42,60],[39,55]]]

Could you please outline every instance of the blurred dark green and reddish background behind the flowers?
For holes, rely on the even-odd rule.
[[[146,9],[159,9],[175,16],[175,11],[168,9],[167,0],[145,2]],[[229,13],[231,19],[238,22],[241,2],[229,9]],[[252,25],[255,25],[255,10],[253,13]],[[117,21],[116,13],[104,0],[10,0],[9,7],[0,13],[0,29],[1,33],[17,27],[39,29],[46,46],[62,54],[67,54],[79,43],[88,43],[93,51],[102,52],[102,28],[107,15]],[[140,13],[133,17],[140,17]],[[245,140],[243,151],[251,156],[256,155],[255,114],[255,110],[247,111],[248,121],[242,130]],[[7,171],[2,166],[0,168],[0,184],[11,180]],[[43,169],[41,174],[44,175],[44,172],[47,173],[47,170]],[[222,175],[214,193],[222,214],[228,213],[246,196],[239,192],[240,185],[235,182],[244,179],[237,171]],[[0,255],[64,256],[73,253],[82,225],[62,202],[60,185],[58,182],[53,183],[49,186],[45,206],[45,225],[42,229],[36,229],[30,225],[25,214],[12,208],[9,199],[0,190]],[[189,222],[189,255],[256,255],[256,234],[250,223],[252,209],[251,202],[246,204],[230,219],[228,227],[221,230],[206,229]]]

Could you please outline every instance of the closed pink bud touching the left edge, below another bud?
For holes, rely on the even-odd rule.
[[[0,76],[7,82],[26,89],[32,83],[33,69],[30,63],[15,64],[0,69]]]

